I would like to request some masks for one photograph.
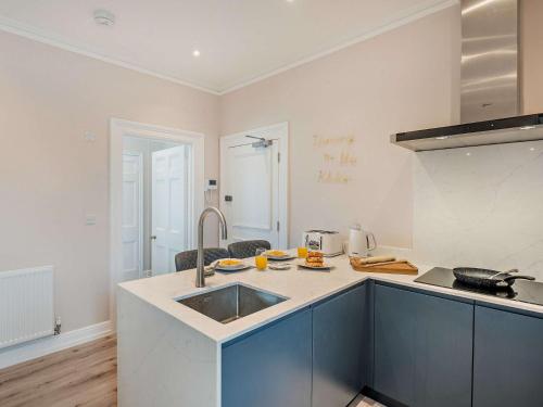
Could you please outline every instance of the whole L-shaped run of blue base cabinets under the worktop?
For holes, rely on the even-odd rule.
[[[223,407],[542,407],[543,318],[358,285],[222,349]]]

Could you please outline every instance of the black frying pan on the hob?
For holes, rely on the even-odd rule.
[[[518,270],[495,271],[475,267],[456,267],[453,269],[454,277],[466,284],[489,290],[507,289],[517,279],[535,280],[531,276],[513,275]]]

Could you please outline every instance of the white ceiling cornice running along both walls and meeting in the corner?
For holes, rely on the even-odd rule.
[[[164,75],[164,74],[161,74],[161,73],[155,72],[155,71],[147,69],[144,67],[138,66],[136,64],[132,64],[132,63],[129,63],[126,61],[109,58],[109,56],[100,54],[99,52],[90,50],[90,49],[86,48],[85,46],[74,43],[65,38],[62,38],[61,36],[55,35],[55,34],[52,34],[52,33],[33,27],[29,25],[22,24],[20,22],[16,22],[14,20],[4,17],[4,16],[0,16],[0,30],[15,34],[15,35],[18,35],[18,36],[22,36],[25,38],[29,38],[29,39],[33,39],[35,41],[47,43],[49,46],[61,48],[61,49],[66,50],[66,51],[75,52],[75,53],[78,53],[78,54],[81,54],[85,56],[89,56],[89,58],[92,58],[92,59],[96,59],[99,61],[106,62],[109,64],[117,65],[117,66],[121,66],[121,67],[124,67],[127,69],[131,69],[131,71],[141,73],[141,74],[154,76],[156,78],[168,80],[168,81],[174,82],[174,84],[187,86],[189,88],[193,88],[193,89],[206,92],[206,93],[211,93],[211,94],[215,94],[215,96],[223,96],[223,94],[227,94],[229,92],[232,92],[235,90],[244,88],[247,86],[253,85],[253,84],[258,82],[261,80],[267,79],[272,76],[281,74],[281,73],[289,71],[289,69],[292,69],[296,66],[300,66],[300,65],[306,64],[308,62],[318,60],[318,59],[324,58],[326,55],[329,55],[333,52],[337,52],[337,51],[340,51],[340,50],[345,49],[348,47],[351,47],[355,43],[358,43],[358,42],[368,40],[370,38],[377,37],[381,34],[393,30],[397,27],[401,27],[403,25],[412,23],[416,20],[422,18],[427,15],[437,13],[441,10],[447,9],[447,8],[455,5],[455,4],[458,4],[458,0],[439,0],[434,4],[428,7],[424,10],[419,10],[416,13],[413,13],[411,15],[399,18],[392,23],[384,24],[381,27],[371,29],[367,33],[364,33],[361,36],[357,36],[355,38],[350,39],[349,41],[342,42],[336,47],[332,47],[332,48],[329,48],[325,51],[306,56],[302,60],[299,60],[294,63],[276,68],[274,71],[266,72],[266,73],[263,73],[261,75],[254,76],[251,79],[240,81],[231,87],[227,87],[226,89],[213,89],[211,87],[206,87],[206,86],[202,86],[202,85],[198,85],[198,84],[192,84],[190,81],[182,80],[181,78],[176,78],[176,77],[171,76],[171,75]]]

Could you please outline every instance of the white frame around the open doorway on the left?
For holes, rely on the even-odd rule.
[[[123,138],[125,136],[174,141],[191,145],[189,242],[197,241],[197,216],[204,208],[204,135],[122,118],[110,118],[110,315],[116,320],[116,287],[123,267]]]

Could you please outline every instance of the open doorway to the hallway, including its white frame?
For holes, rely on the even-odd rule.
[[[175,254],[195,245],[203,207],[203,135],[111,119],[113,309],[118,282],[175,271]]]

